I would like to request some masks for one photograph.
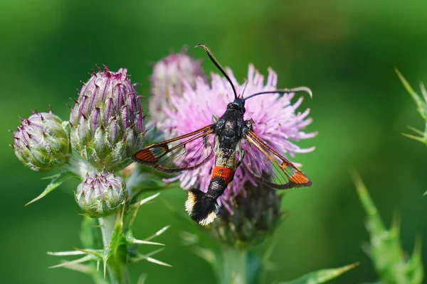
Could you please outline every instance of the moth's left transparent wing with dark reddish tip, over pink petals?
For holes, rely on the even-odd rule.
[[[135,153],[132,159],[169,173],[192,170],[214,156],[213,133],[214,127],[211,124],[186,135],[147,146]]]

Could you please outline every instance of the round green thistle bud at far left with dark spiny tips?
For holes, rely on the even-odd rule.
[[[63,121],[52,112],[35,112],[14,132],[16,157],[31,170],[52,170],[70,158],[71,147]]]

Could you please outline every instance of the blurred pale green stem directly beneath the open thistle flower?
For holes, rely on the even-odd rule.
[[[221,251],[222,273],[220,283],[246,284],[246,261],[248,251],[228,246],[223,246]]]

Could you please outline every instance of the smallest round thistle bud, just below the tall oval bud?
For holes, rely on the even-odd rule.
[[[125,182],[113,173],[95,173],[83,180],[75,192],[78,206],[92,218],[117,212],[125,204]]]

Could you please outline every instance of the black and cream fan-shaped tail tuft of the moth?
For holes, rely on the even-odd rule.
[[[196,188],[189,190],[185,210],[189,212],[191,219],[202,226],[214,222],[216,217],[221,217],[221,207],[216,203],[216,199],[206,196],[206,193]]]

